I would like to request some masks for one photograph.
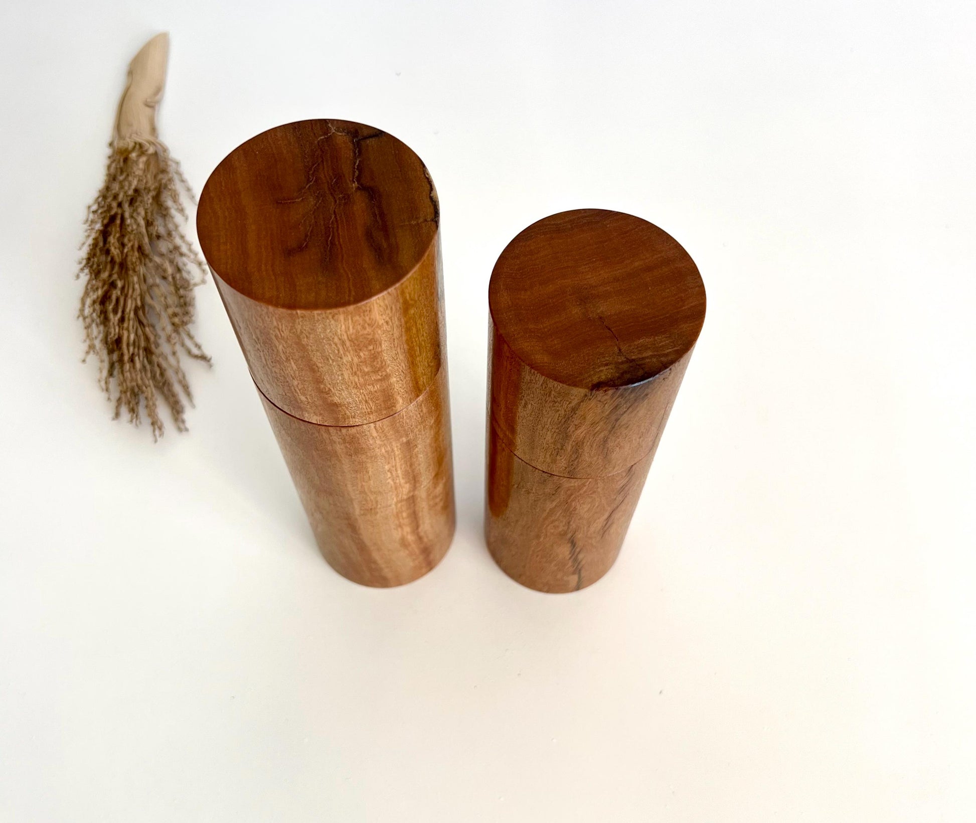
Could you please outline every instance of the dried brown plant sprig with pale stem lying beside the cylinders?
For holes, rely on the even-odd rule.
[[[138,425],[144,404],[153,438],[163,433],[159,399],[185,431],[183,397],[192,394],[181,352],[210,362],[189,326],[193,287],[206,268],[183,234],[181,195],[192,199],[177,162],[159,142],[155,108],[162,97],[168,39],[150,40],[129,67],[102,190],[89,207],[79,316],[86,357],[100,362],[102,389]]]

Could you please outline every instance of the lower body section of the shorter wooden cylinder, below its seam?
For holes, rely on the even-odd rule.
[[[495,562],[540,592],[595,583],[620,554],[653,459],[604,477],[561,477],[516,457],[489,424],[485,540]]]

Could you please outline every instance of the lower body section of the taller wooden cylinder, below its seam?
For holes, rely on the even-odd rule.
[[[260,390],[259,390],[260,391]],[[402,411],[363,426],[319,426],[264,411],[322,555],[364,586],[433,568],[454,535],[447,370]]]

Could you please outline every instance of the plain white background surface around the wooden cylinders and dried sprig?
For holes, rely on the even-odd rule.
[[[394,591],[318,556],[212,283],[190,432],[113,423],[72,279],[128,61],[197,191],[340,117],[442,204],[459,525]],[[976,815],[976,18],[923,2],[24,2],[0,12],[0,820]],[[508,240],[628,211],[709,315],[623,554],[481,537]]]

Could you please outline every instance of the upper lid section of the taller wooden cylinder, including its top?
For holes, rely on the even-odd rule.
[[[273,403],[355,426],[427,390],[446,359],[439,222],[423,162],[370,126],[290,123],[224,158],[197,231]]]

